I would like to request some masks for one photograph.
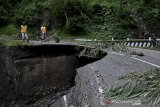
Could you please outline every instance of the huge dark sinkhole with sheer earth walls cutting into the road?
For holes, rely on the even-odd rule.
[[[77,68],[106,55],[68,44],[0,46],[0,106],[47,105],[75,85]]]

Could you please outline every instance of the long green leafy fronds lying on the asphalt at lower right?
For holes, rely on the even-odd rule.
[[[119,77],[128,82],[120,87],[110,85],[106,98],[115,100],[141,100],[155,106],[160,103],[160,69],[144,73],[133,72]]]

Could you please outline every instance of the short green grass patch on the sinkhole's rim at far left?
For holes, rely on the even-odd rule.
[[[5,45],[8,47],[12,47],[12,46],[24,46],[26,45],[25,42],[21,41],[21,40],[3,40],[0,39],[0,45]]]

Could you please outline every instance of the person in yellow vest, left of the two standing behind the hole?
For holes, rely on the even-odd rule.
[[[22,35],[22,40],[25,41],[25,39],[27,40],[27,42],[29,42],[29,38],[27,35],[27,25],[25,25],[25,23],[23,23],[21,25],[21,35]]]

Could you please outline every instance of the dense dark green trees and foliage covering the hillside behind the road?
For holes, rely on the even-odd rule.
[[[1,0],[0,26],[25,22],[94,38],[159,36],[159,0]],[[33,32],[33,30],[32,30]]]

